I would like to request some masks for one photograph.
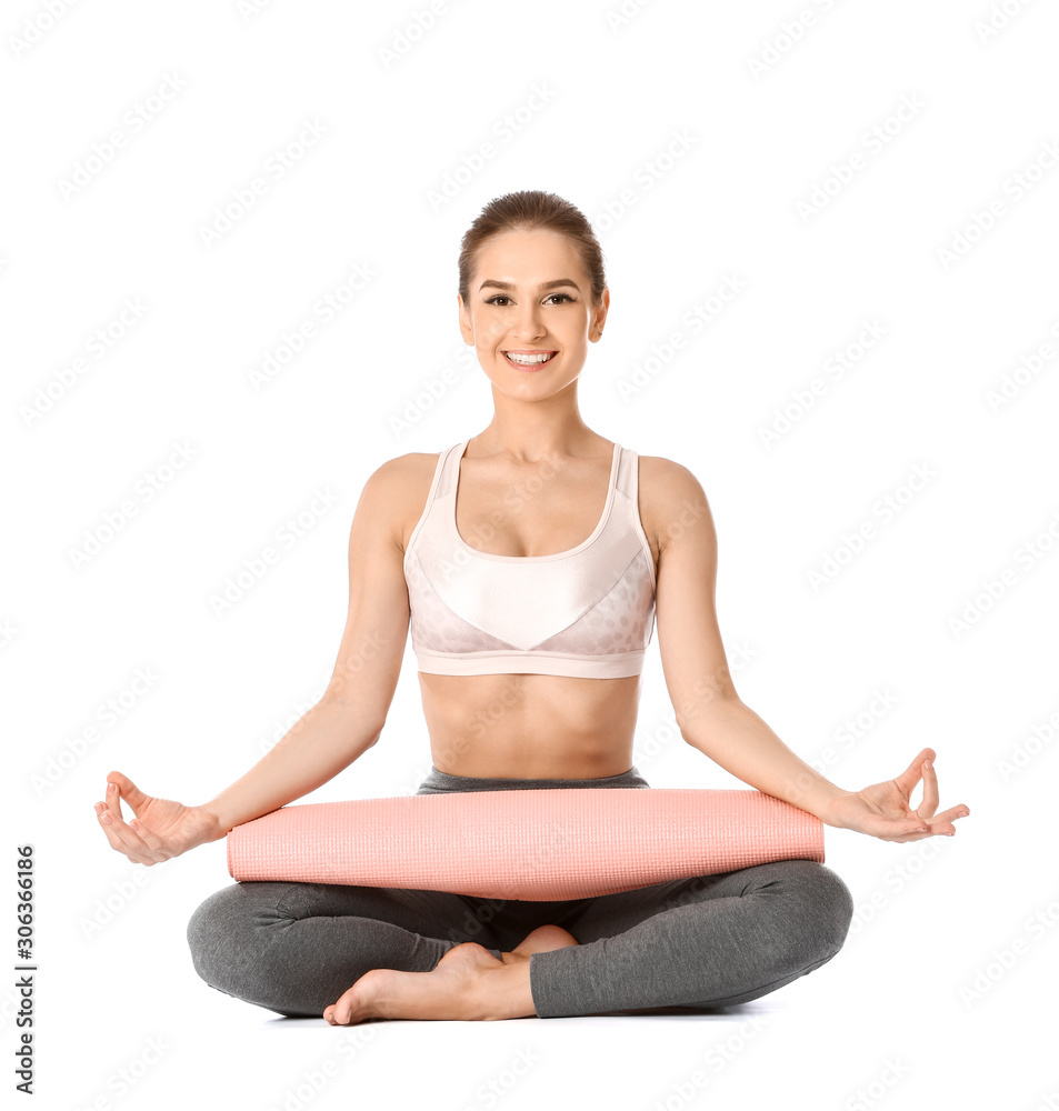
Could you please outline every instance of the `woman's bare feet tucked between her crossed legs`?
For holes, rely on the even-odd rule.
[[[372,969],[323,1011],[333,1025],[364,1019],[517,1019],[536,1014],[530,993],[533,953],[566,949],[577,938],[558,925],[528,933],[498,961],[477,941],[453,945],[430,972]]]

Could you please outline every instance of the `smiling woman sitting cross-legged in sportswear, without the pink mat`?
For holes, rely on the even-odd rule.
[[[419,794],[649,788],[632,740],[656,617],[689,744],[829,825],[885,841],[951,835],[968,808],[937,813],[932,749],[896,779],[843,791],[736,693],[702,488],[578,412],[610,304],[582,213],[552,193],[509,193],[482,210],[459,261],[460,329],[489,379],[492,420],[364,483],[349,615],[321,700],[204,805],[111,772],[96,807],[111,845],[139,863],[168,860],[348,768],[382,734],[409,623],[432,757]],[[281,1014],[555,1018],[757,999],[829,961],[852,910],[842,880],[808,860],[563,902],[244,882],[196,910],[188,940],[207,983]]]

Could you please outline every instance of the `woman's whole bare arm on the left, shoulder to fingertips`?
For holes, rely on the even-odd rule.
[[[346,630],[320,701],[244,775],[200,807],[144,794],[111,772],[113,788],[96,811],[114,849],[152,864],[217,841],[232,827],[314,791],[379,740],[408,638],[401,522],[414,486],[410,477],[406,456],[383,463],[364,483],[349,534]],[[128,823],[120,799],[136,814]]]

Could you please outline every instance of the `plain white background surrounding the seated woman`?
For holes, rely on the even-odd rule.
[[[797,4],[771,0],[630,0],[622,19],[449,0],[422,32],[426,9],[6,6],[3,845],[10,873],[16,845],[37,850],[42,1104],[1059,1105],[1055,7],[807,2],[797,41]],[[319,138],[271,176],[309,123]],[[93,157],[114,131],[123,146]],[[264,194],[206,242],[254,177]],[[848,790],[932,745],[941,807],[971,814],[905,845],[828,829],[858,905],[846,948],[727,1013],[282,1020],[190,962],[187,920],[230,882],[223,842],[134,867],[92,804],[111,769],[203,802],[322,691],[364,479],[489,421],[457,253],[483,204],[526,188],[600,237],[611,312],[581,411],[702,482],[743,700]],[[254,388],[357,264],[367,288]],[[685,314],[726,276],[743,288],[691,336]],[[828,373],[870,322],[881,338]],[[826,390],[799,408],[813,379]],[[190,459],[146,500],[178,444]],[[917,467],[930,479],[911,490]],[[324,489],[334,503],[217,612],[226,579]],[[829,554],[839,573],[815,584]],[[101,725],[138,669],[150,689]],[[656,645],[643,681],[652,787],[743,785],[669,729]],[[417,687],[409,645],[380,743],[302,801],[413,791],[430,763]],[[14,999],[0,991],[9,1065]]]

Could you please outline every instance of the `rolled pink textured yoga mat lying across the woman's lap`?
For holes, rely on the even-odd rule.
[[[282,807],[228,833],[236,880],[585,899],[823,861],[819,818],[761,791],[565,788]]]

